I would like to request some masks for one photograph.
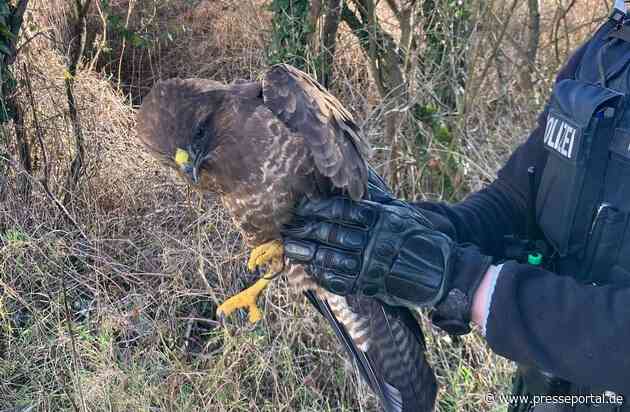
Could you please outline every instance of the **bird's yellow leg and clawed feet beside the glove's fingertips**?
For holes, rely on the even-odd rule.
[[[249,256],[247,268],[252,271],[258,266],[267,265],[267,272],[252,286],[232,296],[217,308],[218,315],[229,316],[236,309],[249,311],[249,321],[256,323],[262,319],[262,312],[256,306],[258,295],[269,285],[273,277],[284,267],[284,248],[280,240],[273,240],[258,246]]]

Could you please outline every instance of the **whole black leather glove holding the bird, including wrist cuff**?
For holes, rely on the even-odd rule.
[[[437,326],[468,333],[474,292],[491,259],[436,231],[407,203],[378,200],[302,201],[283,231],[285,256],[332,293],[433,307]]]

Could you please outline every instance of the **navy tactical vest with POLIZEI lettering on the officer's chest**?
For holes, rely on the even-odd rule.
[[[555,85],[542,142],[548,158],[535,209],[553,250],[549,269],[594,285],[630,284],[630,22],[624,19],[616,10],[586,46],[575,79]],[[606,391],[525,367],[519,372],[520,393]],[[559,410],[630,411],[630,394],[623,395],[623,406]]]

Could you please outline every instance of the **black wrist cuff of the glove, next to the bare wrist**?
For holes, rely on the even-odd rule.
[[[434,325],[451,335],[470,332],[473,298],[491,263],[492,258],[482,255],[474,246],[457,248],[446,279],[448,293],[431,313]]]

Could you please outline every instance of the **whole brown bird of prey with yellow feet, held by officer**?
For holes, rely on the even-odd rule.
[[[137,131],[148,151],[189,184],[220,196],[253,248],[248,268],[268,269],[219,314],[247,309],[256,322],[257,296],[284,273],[328,320],[384,410],[433,410],[435,376],[413,315],[372,298],[333,295],[283,256],[281,229],[304,196],[369,197],[368,145],[335,97],[285,64],[260,81],[230,85],[171,79],[144,98]]]

